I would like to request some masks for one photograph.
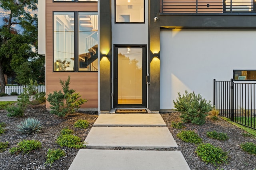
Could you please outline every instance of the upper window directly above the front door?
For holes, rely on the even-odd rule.
[[[116,23],[144,23],[144,0],[115,0]]]

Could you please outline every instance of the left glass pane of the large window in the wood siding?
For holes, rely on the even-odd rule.
[[[54,71],[74,70],[74,13],[54,12]]]

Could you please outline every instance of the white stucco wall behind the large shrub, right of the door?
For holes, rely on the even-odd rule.
[[[160,32],[160,109],[173,109],[178,92],[213,100],[213,79],[230,80],[233,69],[256,69],[256,31]]]

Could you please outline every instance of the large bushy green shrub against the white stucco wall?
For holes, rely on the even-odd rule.
[[[203,125],[207,113],[212,110],[212,105],[202,99],[200,94],[196,95],[185,91],[182,96],[178,93],[178,99],[174,102],[174,107],[181,113],[180,118],[184,123],[191,122],[196,125]]]

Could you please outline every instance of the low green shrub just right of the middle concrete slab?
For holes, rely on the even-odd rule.
[[[202,139],[194,131],[181,131],[180,133],[177,134],[177,137],[182,141],[189,143],[202,143]]]

